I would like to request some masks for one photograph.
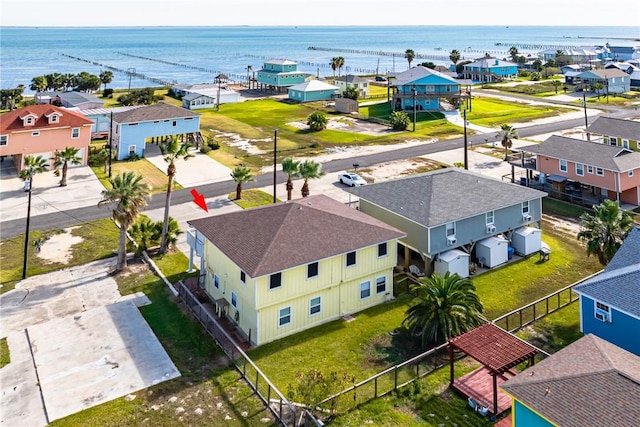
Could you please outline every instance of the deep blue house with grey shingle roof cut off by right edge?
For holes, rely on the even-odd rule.
[[[640,356],[640,228],[634,228],[604,271],[575,286],[580,329]],[[633,333],[632,331],[635,331]]]

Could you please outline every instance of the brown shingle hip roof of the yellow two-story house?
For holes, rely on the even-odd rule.
[[[188,223],[250,277],[406,235],[321,194]]]

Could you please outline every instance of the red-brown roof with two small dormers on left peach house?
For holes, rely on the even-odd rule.
[[[60,114],[60,119],[56,123],[49,124],[48,115],[56,112]],[[35,125],[24,126],[22,118],[32,114],[36,116]],[[0,116],[0,133],[8,134],[25,130],[36,130],[46,128],[76,128],[93,124],[93,121],[84,115],[66,108],[53,105],[30,105],[28,107],[13,110]]]

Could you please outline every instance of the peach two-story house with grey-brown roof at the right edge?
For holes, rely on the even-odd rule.
[[[627,148],[553,135],[520,148],[536,155],[535,169],[589,186],[594,194],[640,205],[640,153]]]

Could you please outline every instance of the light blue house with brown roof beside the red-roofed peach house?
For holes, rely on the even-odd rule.
[[[164,102],[113,115],[114,150],[118,160],[132,155],[144,157],[147,139],[181,136],[200,137],[200,116]]]

